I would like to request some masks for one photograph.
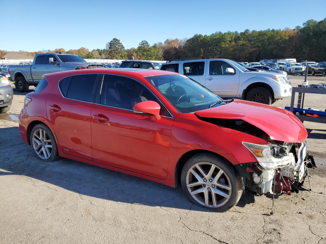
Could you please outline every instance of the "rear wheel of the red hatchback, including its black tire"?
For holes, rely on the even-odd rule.
[[[38,159],[48,162],[59,159],[58,147],[54,136],[45,124],[37,124],[32,129],[30,142]]]

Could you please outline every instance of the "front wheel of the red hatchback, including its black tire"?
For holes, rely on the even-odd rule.
[[[243,193],[243,181],[224,158],[210,153],[192,156],[181,172],[181,185],[188,199],[205,209],[225,212]]]

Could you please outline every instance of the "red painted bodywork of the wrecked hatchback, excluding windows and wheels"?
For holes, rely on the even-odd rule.
[[[149,115],[62,97],[58,88],[60,79],[69,75],[95,73],[125,75],[141,81],[156,94],[173,118],[161,116],[159,120],[151,121]],[[168,71],[146,69],[82,69],[45,75],[48,86],[42,92],[27,94],[32,101],[23,107],[19,118],[22,139],[30,144],[28,133],[31,125],[42,122],[52,130],[59,156],[172,187],[175,186],[175,170],[179,159],[193,150],[214,152],[233,165],[256,162],[256,158],[242,142],[268,142],[244,132],[202,121],[194,113],[178,113],[144,78],[170,74]],[[60,111],[51,110],[49,106],[60,107]],[[202,117],[248,120],[260,129],[265,126],[262,130],[275,140],[287,139],[282,141],[289,142],[296,138],[296,142],[299,142],[307,134],[294,115],[252,102],[235,100],[195,113]],[[108,121],[93,118],[93,115],[106,117]],[[280,118],[276,119],[278,116]],[[269,126],[272,128],[272,124],[284,126],[286,132],[283,129],[268,129]]]

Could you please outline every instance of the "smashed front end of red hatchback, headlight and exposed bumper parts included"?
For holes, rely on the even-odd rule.
[[[307,155],[306,141],[257,145],[243,142],[257,158],[257,162],[238,165],[246,178],[245,187],[257,194],[290,194],[299,192],[304,180],[310,179],[308,168],[316,167],[312,156]],[[245,173],[244,173],[245,172]]]

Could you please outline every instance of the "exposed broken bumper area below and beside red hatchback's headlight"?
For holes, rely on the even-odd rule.
[[[309,189],[310,179],[308,168],[315,168],[313,156],[307,155],[306,141],[301,143],[290,143],[290,157],[287,164],[275,169],[264,169],[259,162],[244,163],[237,165],[244,180],[245,188],[257,194],[291,194],[299,192],[304,180],[308,177]]]

